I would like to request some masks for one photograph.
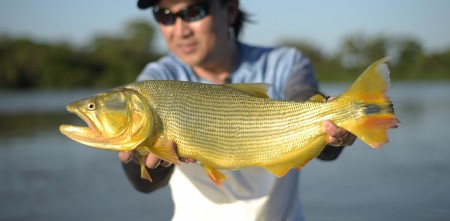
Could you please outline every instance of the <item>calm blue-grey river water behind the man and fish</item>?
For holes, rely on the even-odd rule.
[[[115,152],[59,133],[80,122],[64,106],[94,92],[0,92],[0,220],[170,220],[168,188],[135,191]],[[357,141],[302,170],[307,220],[450,220],[450,82],[395,83],[389,95],[402,122],[390,143]]]

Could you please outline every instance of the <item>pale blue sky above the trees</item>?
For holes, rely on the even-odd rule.
[[[312,42],[335,52],[355,33],[419,41],[427,51],[450,49],[449,0],[241,0],[255,22],[242,41],[275,46],[281,40]],[[1,0],[0,33],[40,41],[87,44],[99,34],[120,34],[135,19],[148,19],[136,0]],[[164,45],[158,35],[158,45]],[[158,50],[166,50],[161,46]]]

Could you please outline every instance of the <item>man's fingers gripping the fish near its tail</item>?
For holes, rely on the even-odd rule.
[[[323,129],[328,134],[327,144],[330,146],[350,146],[355,140],[356,136],[349,131],[336,126],[331,121],[323,122]]]

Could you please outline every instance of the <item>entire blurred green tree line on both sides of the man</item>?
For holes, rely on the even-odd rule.
[[[95,37],[83,47],[0,34],[0,89],[108,88],[133,82],[148,62],[162,55],[152,50],[155,30],[148,22],[133,21],[121,33]],[[333,55],[309,42],[284,40],[279,45],[308,56],[321,82],[353,81],[386,55],[392,57],[394,80],[450,80],[450,48],[426,53],[413,38],[353,34]]]

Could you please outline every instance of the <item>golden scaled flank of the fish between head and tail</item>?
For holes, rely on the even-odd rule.
[[[268,166],[287,157],[323,134],[321,122],[330,119],[333,106],[276,101],[229,86],[181,81],[138,82],[130,88],[158,113],[180,156],[216,169]]]

